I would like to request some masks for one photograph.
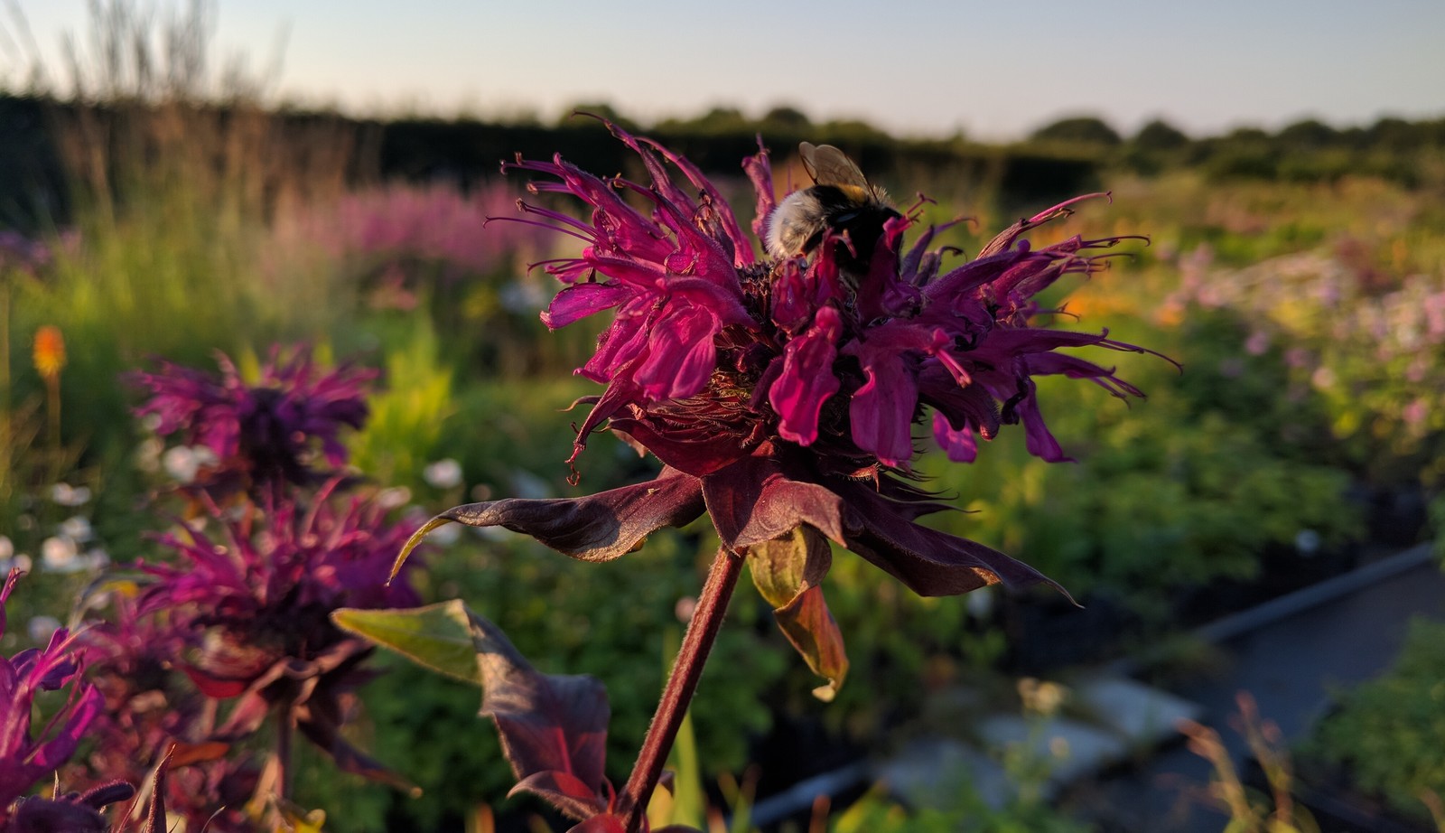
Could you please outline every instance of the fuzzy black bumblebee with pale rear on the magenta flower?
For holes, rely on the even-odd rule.
[[[764,242],[773,257],[812,253],[828,231],[847,237],[838,246],[840,275],[857,289],[890,217],[902,217],[886,191],[832,145],[798,146],[814,185],[789,194],[767,217]]]

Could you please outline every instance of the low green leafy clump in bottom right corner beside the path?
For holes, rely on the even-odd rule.
[[[1394,667],[1340,696],[1305,753],[1342,764],[1357,787],[1426,819],[1445,795],[1445,623],[1416,619]]]

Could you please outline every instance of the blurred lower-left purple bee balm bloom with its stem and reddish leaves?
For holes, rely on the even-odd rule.
[[[418,603],[405,583],[386,586],[415,525],[334,497],[337,486],[305,503],[207,503],[204,528],[181,522],[159,537],[178,560],[139,563],[139,591],[97,636],[107,710],[94,769],[176,748],[172,811],[220,832],[253,830],[250,808],[289,797],[295,733],[344,771],[413,790],[342,736],[355,688],[374,677],[373,648],[328,616]]]

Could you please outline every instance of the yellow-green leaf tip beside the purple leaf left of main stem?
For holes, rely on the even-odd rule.
[[[390,648],[418,665],[481,685],[471,618],[461,600],[405,610],[342,607],[331,615],[331,620],[337,628]]]

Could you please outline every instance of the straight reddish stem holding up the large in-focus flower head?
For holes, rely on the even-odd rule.
[[[737,587],[741,573],[743,557],[728,552],[727,547],[720,547],[708,571],[708,581],[702,586],[702,596],[698,597],[698,606],[692,612],[692,620],[688,622],[678,659],[672,664],[668,687],[662,691],[662,701],[652,716],[647,738],[642,742],[637,764],[633,765],[631,777],[627,778],[627,785],[618,797],[617,813],[623,816],[623,829],[627,833],[642,830],[647,801],[652,800],[652,791],[662,777],[662,766],[668,761],[668,752],[672,751],[682,717],[688,713],[688,703],[698,690],[702,665],[707,664],[712,642],[722,629],[722,616],[727,613],[727,603],[733,599],[733,589]]]

